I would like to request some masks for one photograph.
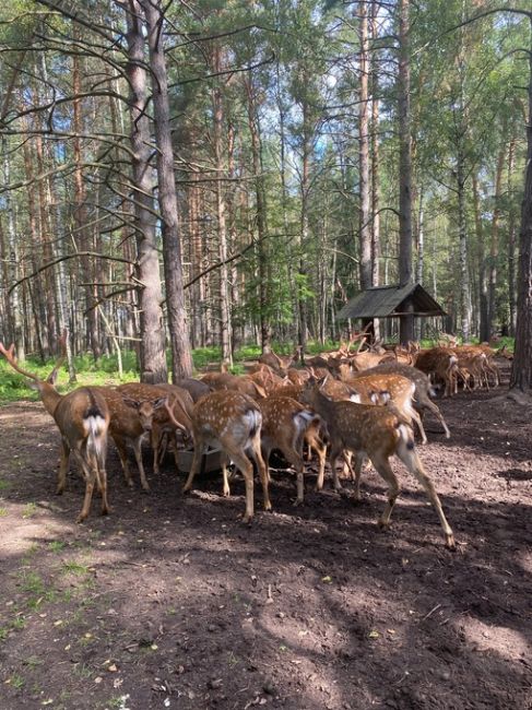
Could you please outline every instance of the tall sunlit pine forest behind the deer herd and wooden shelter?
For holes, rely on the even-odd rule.
[[[513,335],[531,15],[5,3],[0,340],[20,357],[64,327],[95,357],[140,343],[157,381],[166,343],[177,377],[191,346],[326,342],[351,296],[407,281],[448,313],[415,336]]]

